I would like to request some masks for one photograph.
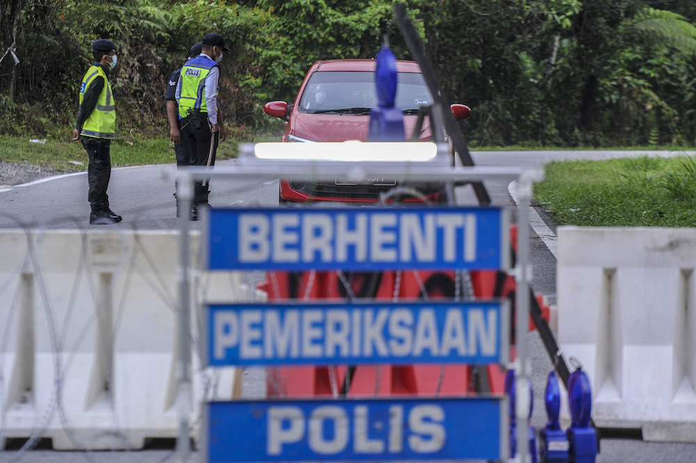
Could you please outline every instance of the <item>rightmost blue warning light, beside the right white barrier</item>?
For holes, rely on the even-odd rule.
[[[572,422],[566,434],[571,462],[594,463],[597,456],[597,434],[590,426],[592,389],[590,379],[581,368],[568,378],[568,405]]]

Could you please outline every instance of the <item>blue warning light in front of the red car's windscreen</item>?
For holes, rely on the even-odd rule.
[[[370,110],[368,141],[404,141],[404,114],[394,107],[397,90],[396,56],[383,45],[377,54],[374,83],[379,107]]]

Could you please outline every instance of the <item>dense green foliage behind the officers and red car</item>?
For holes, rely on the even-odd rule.
[[[166,136],[166,80],[209,31],[232,48],[228,126],[277,128],[262,105],[292,99],[315,60],[372,57],[385,34],[410,58],[395,1],[3,1],[0,133],[67,138],[89,44],[105,37],[118,45],[118,131]],[[446,94],[473,108],[474,146],[696,144],[693,0],[398,1]]]

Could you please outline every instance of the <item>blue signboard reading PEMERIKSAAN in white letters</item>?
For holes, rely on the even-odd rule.
[[[207,364],[507,362],[507,301],[218,304]]]

